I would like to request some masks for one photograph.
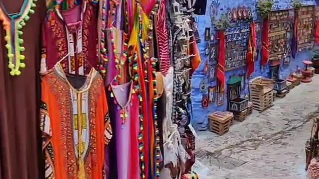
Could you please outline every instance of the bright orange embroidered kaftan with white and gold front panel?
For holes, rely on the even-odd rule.
[[[104,179],[112,130],[97,71],[74,77],[56,65],[42,78],[40,120],[45,179]]]

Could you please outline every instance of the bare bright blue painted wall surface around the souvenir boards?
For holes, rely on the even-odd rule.
[[[202,39],[202,42],[198,44],[198,48],[199,48],[199,51],[201,54],[202,63],[200,64],[199,68],[194,72],[194,74],[192,76],[192,81],[191,81],[191,88],[192,88],[191,100],[192,100],[192,111],[193,111],[192,123],[194,124],[195,127],[198,126],[198,125],[196,125],[198,123],[207,123],[207,115],[209,113],[212,113],[216,110],[225,111],[227,108],[227,101],[226,100],[225,100],[224,105],[222,105],[222,106],[217,106],[217,102],[210,103],[207,108],[202,108],[202,106],[201,106],[202,95],[205,93],[200,92],[199,86],[200,86],[200,82],[203,79],[208,78],[207,75],[204,74],[204,72],[203,72],[205,61],[208,60],[208,56],[205,55],[205,48],[206,48],[207,42],[204,41],[204,31],[205,31],[205,27],[211,27],[211,29],[213,29],[212,24],[211,24],[211,20],[210,20],[211,19],[210,18],[210,5],[211,5],[212,1],[216,2],[216,0],[207,0],[207,8],[206,8],[205,15],[195,17],[197,24],[198,24],[199,35]],[[226,12],[228,7],[233,8],[233,7],[238,7],[239,5],[245,5],[246,7],[252,8],[254,20],[258,23],[259,19],[257,19],[257,13],[256,13],[256,9],[255,9],[257,0],[217,0],[217,1],[219,1],[219,3],[220,3],[219,7],[217,7],[217,13],[215,14],[217,19],[220,17],[220,15],[222,13]],[[291,1],[292,0],[275,0],[275,4],[274,4],[273,8],[274,9],[291,8],[291,3],[292,3]],[[314,5],[316,3],[315,3],[315,0],[303,0],[303,4],[304,5]],[[211,32],[212,32],[212,30],[211,30]],[[212,32],[212,33],[215,33],[215,32]],[[261,32],[259,31],[259,32],[257,32],[257,38],[260,40],[261,39],[260,37],[261,37]],[[270,78],[269,66],[266,66],[266,67],[260,66],[259,50],[260,50],[260,48],[258,48],[258,54],[259,54],[258,60],[255,61],[255,72],[252,74],[250,79],[258,77],[258,76],[264,76],[264,77]],[[298,52],[298,54],[296,55],[296,58],[291,60],[291,63],[288,67],[283,67],[281,65],[280,77],[286,79],[290,75],[291,71],[296,69],[297,65],[299,67],[303,67],[302,62],[304,60],[307,60],[307,59],[308,60],[311,59],[311,52],[310,51],[305,50],[302,52]],[[243,67],[243,68],[239,68],[239,69],[235,69],[235,70],[226,72],[225,73],[226,82],[230,76],[246,73],[246,71],[247,71],[246,67]],[[246,87],[244,90],[242,90],[242,96],[244,96],[245,94],[249,95],[248,81],[250,79],[246,79]],[[216,81],[208,84],[208,86],[216,86]],[[226,95],[227,94],[225,94],[225,99],[227,99]]]

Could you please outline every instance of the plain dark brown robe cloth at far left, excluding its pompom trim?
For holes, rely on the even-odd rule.
[[[8,13],[20,11],[23,0],[0,0]],[[4,31],[0,22],[0,179],[43,179],[39,132],[39,62],[45,1],[23,27],[26,67],[10,76]]]

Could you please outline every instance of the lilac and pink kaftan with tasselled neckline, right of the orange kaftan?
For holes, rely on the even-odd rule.
[[[139,100],[133,82],[110,85],[107,91],[114,137],[108,146],[108,179],[139,179]]]

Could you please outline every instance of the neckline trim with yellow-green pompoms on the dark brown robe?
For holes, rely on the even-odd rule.
[[[24,0],[20,12],[8,14],[4,5],[0,3],[0,20],[3,21],[3,29],[5,31],[4,40],[6,42],[5,48],[7,49],[8,68],[10,75],[20,75],[20,68],[25,68],[23,60],[25,56],[22,52],[25,48],[22,46],[22,28],[25,22],[30,18],[28,14],[33,14],[37,0]]]

